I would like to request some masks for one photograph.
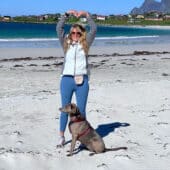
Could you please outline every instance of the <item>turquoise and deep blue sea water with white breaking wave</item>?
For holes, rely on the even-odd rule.
[[[65,25],[68,32],[70,25]],[[87,26],[87,30],[89,27]],[[170,43],[170,29],[98,26],[93,46]],[[56,24],[0,22],[0,48],[60,47]]]

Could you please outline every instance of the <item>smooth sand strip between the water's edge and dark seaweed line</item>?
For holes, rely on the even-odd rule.
[[[132,55],[135,51],[169,53],[170,43],[92,46],[89,55]],[[10,58],[64,57],[62,48],[0,48],[0,60]]]

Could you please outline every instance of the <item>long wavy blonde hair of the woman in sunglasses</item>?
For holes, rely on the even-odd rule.
[[[72,44],[72,39],[71,39],[71,33],[73,29],[77,29],[77,31],[79,31],[81,33],[80,39],[79,39],[79,43],[82,45],[84,52],[86,54],[86,56],[88,55],[88,51],[89,51],[89,47],[87,44],[87,40],[86,40],[86,29],[80,25],[80,24],[74,24],[71,29],[69,34],[66,36],[65,40],[64,40],[64,53],[67,52],[68,48],[70,47],[70,45]]]

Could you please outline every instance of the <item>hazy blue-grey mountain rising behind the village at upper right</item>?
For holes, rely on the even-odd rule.
[[[170,13],[170,0],[145,0],[140,8],[134,8],[131,14],[144,14],[150,11],[159,11],[163,13]]]

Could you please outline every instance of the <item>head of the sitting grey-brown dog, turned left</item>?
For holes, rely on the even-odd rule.
[[[74,103],[69,103],[69,104],[65,105],[64,107],[59,108],[59,110],[61,112],[68,113],[70,116],[80,115],[80,111],[79,111],[78,107],[76,106],[76,104],[74,104]]]

